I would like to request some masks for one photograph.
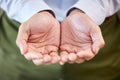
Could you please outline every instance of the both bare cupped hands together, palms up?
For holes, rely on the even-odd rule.
[[[35,65],[82,63],[92,59],[105,44],[99,26],[77,9],[61,24],[48,11],[33,15],[19,27],[16,43],[22,55]]]

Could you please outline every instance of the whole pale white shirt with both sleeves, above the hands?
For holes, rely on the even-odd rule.
[[[54,12],[62,21],[71,8],[84,11],[96,24],[120,10],[120,0],[0,0],[0,7],[20,23],[42,10]]]

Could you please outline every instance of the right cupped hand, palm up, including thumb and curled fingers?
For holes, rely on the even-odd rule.
[[[92,59],[104,46],[99,26],[85,13],[73,10],[61,24],[60,64]]]

